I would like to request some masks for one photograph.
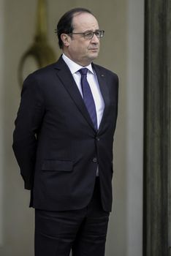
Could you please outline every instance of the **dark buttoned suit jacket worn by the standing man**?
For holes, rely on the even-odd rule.
[[[111,211],[118,77],[92,64],[104,99],[96,132],[64,60],[28,75],[15,120],[13,150],[34,208],[64,211],[91,200],[99,165],[102,206]]]

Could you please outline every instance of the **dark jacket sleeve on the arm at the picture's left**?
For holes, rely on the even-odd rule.
[[[37,132],[41,127],[44,113],[45,102],[39,83],[34,75],[29,75],[21,91],[12,144],[25,189],[31,189],[33,186]]]

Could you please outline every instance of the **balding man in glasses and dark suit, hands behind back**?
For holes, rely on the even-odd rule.
[[[112,206],[118,77],[92,61],[104,31],[89,10],[57,26],[63,54],[28,75],[13,149],[35,208],[35,255],[104,255]]]

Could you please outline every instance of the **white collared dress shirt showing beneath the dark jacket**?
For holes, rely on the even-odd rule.
[[[79,64],[69,59],[64,53],[62,55],[62,58],[66,62],[67,66],[69,67],[73,75],[73,78],[75,79],[75,83],[77,84],[77,88],[79,89],[80,94],[83,97],[83,92],[81,88],[81,75],[78,70],[84,67],[80,66]],[[94,72],[94,69],[92,68],[91,64],[89,64],[86,68],[88,69],[87,80],[91,88],[91,92],[94,97],[94,103],[96,106],[97,128],[99,129],[99,124],[102,120],[103,111],[104,111],[104,100],[103,100],[101,91],[99,89],[99,83],[96,77],[96,73]]]

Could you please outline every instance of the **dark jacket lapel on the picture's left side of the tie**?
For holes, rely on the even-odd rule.
[[[61,83],[63,83],[70,97],[72,97],[73,101],[75,102],[75,105],[77,105],[77,108],[80,110],[84,118],[86,118],[88,124],[90,124],[90,126],[95,130],[94,124],[91,121],[91,117],[89,116],[86,105],[83,102],[83,98],[80,94],[80,91],[77,88],[77,85],[75,83],[74,78],[72,77],[69,67],[66,65],[62,57],[60,57],[57,63],[55,64],[55,69],[57,70],[56,74],[58,78],[61,80]]]

